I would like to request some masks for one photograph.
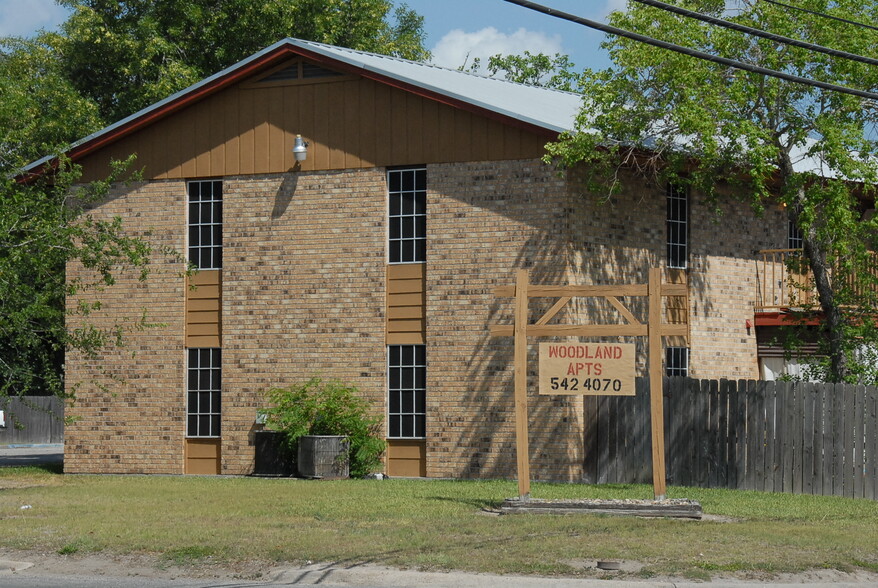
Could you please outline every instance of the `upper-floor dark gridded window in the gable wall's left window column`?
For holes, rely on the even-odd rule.
[[[223,267],[223,183],[192,181],[189,190],[189,261],[198,269]]]

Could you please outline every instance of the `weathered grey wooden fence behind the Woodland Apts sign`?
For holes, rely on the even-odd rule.
[[[584,478],[648,483],[649,384],[588,397]],[[878,388],[664,378],[668,483],[878,498]]]

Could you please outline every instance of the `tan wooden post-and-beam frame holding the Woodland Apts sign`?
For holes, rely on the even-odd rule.
[[[527,428],[527,338],[528,337],[646,337],[649,355],[649,396],[650,420],[652,423],[652,480],[656,500],[663,500],[666,493],[665,476],[665,433],[662,400],[662,337],[688,336],[687,322],[666,324],[663,321],[662,298],[664,296],[687,296],[686,284],[663,284],[660,268],[650,268],[647,284],[628,284],[620,286],[533,286],[529,283],[527,270],[518,270],[515,286],[501,286],[495,296],[515,297],[515,314],[512,325],[494,325],[491,335],[514,337],[514,382],[515,382],[515,450],[518,464],[518,493],[520,500],[530,498],[530,457]],[[625,324],[615,325],[563,325],[548,324],[574,297],[602,297],[625,319]],[[646,324],[643,324],[619,301],[623,296],[647,297],[649,310]],[[528,301],[530,298],[558,298],[558,301],[534,324],[528,323]],[[620,347],[619,357],[625,354]],[[578,351],[576,353],[579,353]],[[587,351],[582,352],[583,355]],[[596,352],[593,352],[596,353]],[[604,352],[616,355],[616,352]],[[585,357],[583,357],[585,359]],[[603,359],[603,358],[601,358]],[[607,358],[609,359],[609,358]],[[583,363],[586,362],[577,362]],[[570,369],[570,368],[568,368]],[[576,367],[579,369],[585,369]],[[603,370],[603,367],[601,367]],[[605,383],[604,380],[609,380]],[[595,391],[594,378],[586,390],[577,379],[577,388],[588,394],[621,394],[626,388],[622,377],[600,378],[599,390]],[[618,380],[618,389],[616,389]],[[568,390],[557,393],[571,393],[572,382],[566,383]],[[549,383],[551,386],[551,382]],[[559,382],[559,388],[560,388]],[[609,389],[609,392],[607,392]]]

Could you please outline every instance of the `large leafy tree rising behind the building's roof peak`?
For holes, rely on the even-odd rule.
[[[389,0],[59,0],[68,79],[119,120],[286,37],[429,57],[423,17]]]

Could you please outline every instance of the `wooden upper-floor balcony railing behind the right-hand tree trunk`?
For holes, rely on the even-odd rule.
[[[792,263],[790,263],[792,262]],[[801,268],[801,271],[798,271]],[[878,253],[869,254],[867,270],[878,276]],[[850,292],[858,296],[878,294],[878,281],[853,282]],[[813,307],[818,305],[814,279],[801,249],[765,249],[756,257],[756,312]]]

